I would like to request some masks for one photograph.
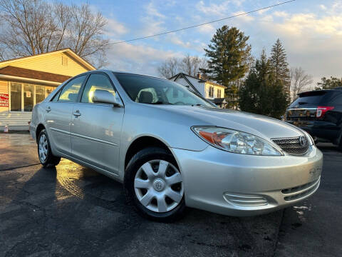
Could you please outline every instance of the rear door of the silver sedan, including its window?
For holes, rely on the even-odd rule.
[[[73,104],[78,99],[78,93],[86,79],[86,75],[77,76],[68,82],[46,104],[46,126],[53,148],[61,153],[71,154],[71,115]]]

